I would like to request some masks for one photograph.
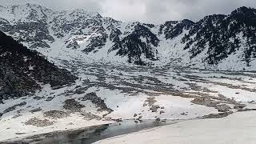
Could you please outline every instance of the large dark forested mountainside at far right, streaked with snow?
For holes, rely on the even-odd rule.
[[[250,66],[250,61],[256,58],[255,12],[254,9],[241,7],[228,16],[211,15],[195,23],[183,38],[183,42],[187,43],[185,49],[190,50],[190,58],[206,50],[204,61],[217,65],[230,54],[241,51],[242,59]]]

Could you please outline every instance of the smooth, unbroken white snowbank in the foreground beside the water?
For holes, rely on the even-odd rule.
[[[255,116],[256,113],[251,111],[236,113],[226,118],[178,122],[170,126],[143,130],[95,143],[254,144],[256,141],[254,135],[256,130],[254,126]]]

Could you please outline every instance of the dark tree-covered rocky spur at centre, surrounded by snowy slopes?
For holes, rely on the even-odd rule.
[[[120,56],[127,56],[130,63],[146,65],[142,61],[142,54],[146,59],[157,60],[158,42],[157,35],[153,34],[146,26],[138,24],[134,26],[134,31],[131,34],[122,38],[121,41],[116,40],[112,50],[118,50],[117,54]]]

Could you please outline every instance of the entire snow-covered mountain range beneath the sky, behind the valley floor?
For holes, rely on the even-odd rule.
[[[86,10],[0,6],[0,30],[51,60],[256,70],[256,10],[238,8],[199,22],[119,22]]]

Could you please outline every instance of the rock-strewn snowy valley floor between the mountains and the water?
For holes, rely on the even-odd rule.
[[[254,110],[247,105],[256,103],[255,72],[122,66],[80,61],[64,61],[62,67],[71,70],[79,80],[70,86],[48,87],[38,91],[32,98],[4,101],[0,105],[0,128],[4,132],[15,132],[18,137],[29,134],[30,130],[22,132],[15,131],[10,125],[6,127],[6,122],[17,121],[24,127],[33,126],[33,130],[47,126],[49,130],[55,130],[57,128],[54,127],[65,120],[64,130],[69,130],[81,127],[79,122],[92,120],[119,122],[134,119],[135,122],[141,122],[143,119],[222,118],[237,111]],[[170,99],[162,102],[162,96]],[[204,106],[204,109],[215,112],[190,112],[190,106],[178,110],[182,106],[168,105],[171,98],[184,98],[192,107]],[[76,117],[82,121],[72,122],[69,119]]]

